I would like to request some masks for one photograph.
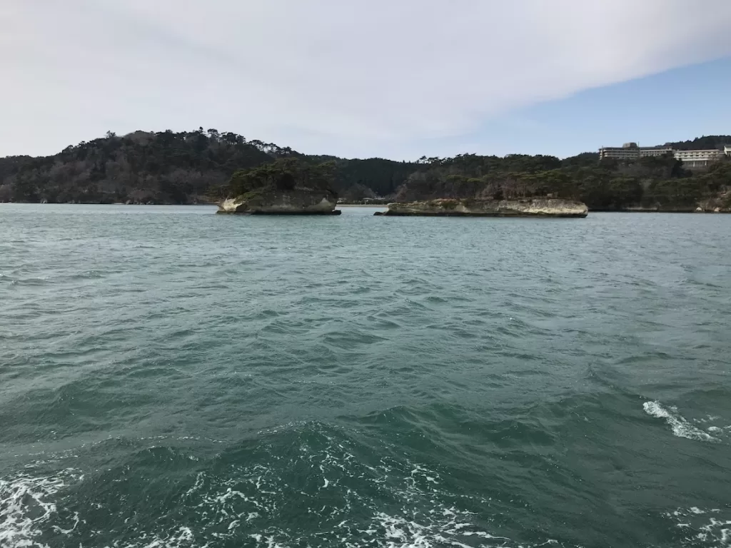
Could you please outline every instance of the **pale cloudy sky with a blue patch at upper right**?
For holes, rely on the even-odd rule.
[[[0,156],[202,126],[417,159],[731,134],[731,0],[2,0]]]

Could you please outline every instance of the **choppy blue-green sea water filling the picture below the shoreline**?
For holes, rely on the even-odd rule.
[[[731,216],[372,212],[0,205],[0,546],[731,546]]]

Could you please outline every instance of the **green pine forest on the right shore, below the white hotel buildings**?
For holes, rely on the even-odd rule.
[[[599,162],[596,154],[504,158],[465,154],[433,161],[414,172],[395,201],[439,197],[578,199],[591,210],[692,211],[731,207],[731,159],[702,172],[686,170],[672,155]]]

